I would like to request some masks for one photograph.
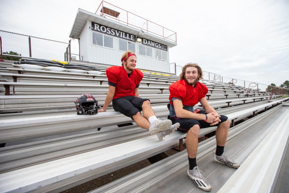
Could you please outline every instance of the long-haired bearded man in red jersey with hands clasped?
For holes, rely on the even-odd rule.
[[[233,168],[238,168],[240,165],[224,155],[224,146],[230,123],[228,117],[219,115],[215,109],[210,106],[206,99],[208,88],[199,82],[200,79],[203,79],[203,72],[198,64],[188,63],[182,68],[180,80],[169,86],[170,109],[168,119],[170,119],[173,124],[180,123],[179,131],[188,132],[186,136],[189,160],[187,174],[197,187],[209,191],[212,187],[202,176],[196,163],[200,128],[218,126],[216,130],[217,148],[213,154],[213,160],[215,162],[226,164]],[[205,109],[206,115],[194,113],[193,107],[198,102],[200,102]]]

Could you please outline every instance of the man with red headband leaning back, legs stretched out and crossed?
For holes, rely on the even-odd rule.
[[[111,66],[106,70],[108,92],[104,106],[98,112],[106,111],[112,101],[115,111],[131,117],[139,127],[148,129],[150,134],[157,134],[159,139],[174,132],[179,124],[172,125],[171,120],[157,119],[150,100],[138,97],[139,83],[144,75],[135,68],[136,55],[127,51],[122,55],[121,62],[121,66]]]

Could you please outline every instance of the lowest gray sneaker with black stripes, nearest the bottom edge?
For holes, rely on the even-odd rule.
[[[198,166],[194,167],[193,169],[190,169],[189,167],[187,173],[198,188],[201,188],[202,190],[205,191],[210,191],[212,189],[212,186],[203,177],[202,174],[204,173],[198,168]]]

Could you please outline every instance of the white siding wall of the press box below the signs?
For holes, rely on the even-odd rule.
[[[90,27],[90,28],[89,28]],[[92,30],[91,21],[87,20],[85,26],[80,34],[80,60],[83,56],[84,61],[103,63],[109,65],[121,65],[120,58],[123,51],[119,51],[119,44],[117,37],[113,37],[113,49],[92,45]],[[155,48],[152,48],[153,57],[142,56],[138,54],[138,44],[135,43],[135,53],[137,55],[137,68],[147,69],[151,71],[167,72],[169,73],[169,61],[156,59]],[[167,53],[169,59],[169,51]]]

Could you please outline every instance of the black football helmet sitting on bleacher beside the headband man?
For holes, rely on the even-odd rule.
[[[75,106],[77,115],[95,115],[97,114],[98,102],[91,94],[82,94],[77,99]]]

